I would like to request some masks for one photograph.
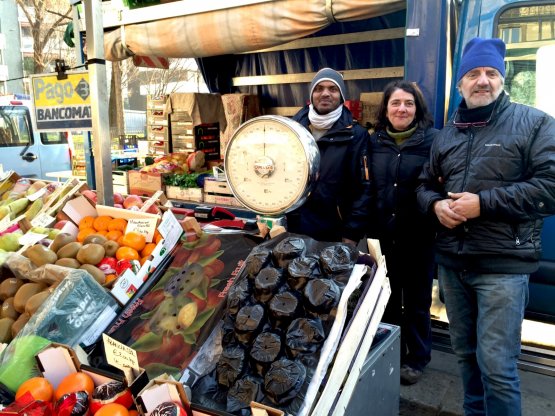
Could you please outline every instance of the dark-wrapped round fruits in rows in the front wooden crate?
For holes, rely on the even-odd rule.
[[[357,257],[348,245],[287,233],[257,246],[227,296],[216,368],[192,386],[192,402],[241,415],[256,401],[295,414]]]

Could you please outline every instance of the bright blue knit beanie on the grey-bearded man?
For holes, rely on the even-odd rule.
[[[489,66],[499,71],[505,78],[505,42],[501,39],[474,38],[464,47],[463,57],[457,72],[457,82],[474,69]]]

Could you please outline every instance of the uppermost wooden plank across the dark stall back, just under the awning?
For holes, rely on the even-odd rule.
[[[257,51],[244,52],[243,54],[259,52],[288,51],[292,49],[320,48],[324,46],[346,45],[350,43],[376,42],[380,40],[391,40],[405,37],[404,27],[391,29],[368,30],[365,32],[344,33],[341,35],[318,36],[294,40],[283,45]]]

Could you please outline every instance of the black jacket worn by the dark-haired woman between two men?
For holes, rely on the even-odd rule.
[[[370,136],[374,205],[368,237],[384,243],[431,246],[434,223],[418,208],[416,188],[437,133],[434,128],[419,128],[401,147],[385,131]]]

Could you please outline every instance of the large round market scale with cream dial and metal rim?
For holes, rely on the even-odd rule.
[[[231,137],[225,152],[225,174],[235,197],[262,215],[281,215],[302,205],[320,167],[312,134],[281,116],[261,116]]]

